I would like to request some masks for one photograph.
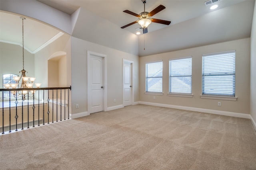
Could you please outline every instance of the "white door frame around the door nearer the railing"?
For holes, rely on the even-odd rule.
[[[87,112],[88,115],[90,115],[90,96],[91,96],[91,89],[90,89],[90,83],[91,83],[91,58],[92,56],[95,57],[102,57],[103,58],[103,111],[107,111],[107,56],[104,54],[87,51]]]

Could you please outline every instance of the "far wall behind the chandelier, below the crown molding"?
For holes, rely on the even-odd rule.
[[[22,47],[0,42],[0,88],[3,88],[3,74],[12,73],[20,76],[22,69]],[[34,77],[34,54],[26,49],[24,49],[24,70],[28,72],[26,76]]]

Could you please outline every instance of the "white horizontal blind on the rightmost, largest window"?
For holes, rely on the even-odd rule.
[[[236,52],[202,55],[202,94],[235,96]]]

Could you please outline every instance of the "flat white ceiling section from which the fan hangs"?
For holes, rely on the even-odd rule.
[[[136,14],[144,11],[144,4],[142,0],[38,0],[48,6],[56,8],[67,14],[72,14],[79,7],[82,7],[94,14],[111,21],[112,23],[122,27],[133,21],[137,21],[138,18],[130,14],[126,14],[124,10],[130,10]],[[206,0],[147,0],[145,4],[145,10],[150,12],[154,10],[160,4],[165,6],[166,9],[160,11],[152,18],[171,21],[170,25],[163,25],[160,23],[151,23],[148,27],[148,31],[152,32],[157,29],[168,27],[176,23],[180,23],[191,18],[202,16],[206,13],[212,12],[210,6],[205,6]],[[215,4],[218,4],[218,9],[231,6],[244,0],[220,0]],[[216,10],[218,10],[216,9]],[[136,33],[137,28],[140,25],[138,23],[133,24],[124,29],[131,33]]]

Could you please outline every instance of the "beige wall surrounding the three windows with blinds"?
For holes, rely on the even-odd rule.
[[[202,94],[202,54],[236,50],[236,97],[237,101],[201,99]],[[169,59],[192,55],[193,98],[168,96]],[[163,60],[163,96],[146,95],[145,63]],[[206,45],[170,53],[140,57],[140,101],[175,106],[196,107],[236,113],[250,113],[250,38]],[[217,106],[221,102],[221,106]]]

